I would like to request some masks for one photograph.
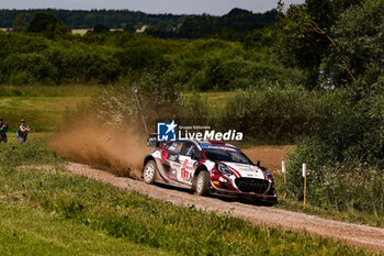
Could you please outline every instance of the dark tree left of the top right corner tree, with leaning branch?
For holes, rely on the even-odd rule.
[[[357,81],[331,30],[349,8],[362,8],[362,0],[306,0],[291,5],[276,26],[276,52],[286,66],[305,70],[308,88],[318,85],[319,68],[330,51],[343,63],[343,75],[336,82]]]

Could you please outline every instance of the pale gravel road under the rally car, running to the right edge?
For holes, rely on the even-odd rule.
[[[305,230],[310,234],[331,237],[374,252],[384,252],[384,229],[330,221],[278,208],[259,207],[212,197],[199,197],[189,193],[187,190],[157,185],[148,186],[143,181],[117,177],[113,174],[81,164],[70,163],[67,165],[67,169],[77,175],[83,175],[122,189],[135,190],[142,194],[169,201],[177,205],[193,204],[196,209],[205,211],[216,211],[219,213],[230,212],[230,215],[250,221],[255,224],[281,226],[294,231]]]

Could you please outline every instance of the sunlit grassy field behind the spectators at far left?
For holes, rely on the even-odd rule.
[[[37,131],[50,131],[63,122],[66,108],[75,108],[89,101],[101,87],[8,87],[0,86],[0,116],[11,131],[15,131],[21,119]]]

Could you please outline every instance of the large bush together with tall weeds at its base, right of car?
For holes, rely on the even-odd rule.
[[[383,93],[355,100],[350,90],[328,92],[328,109],[309,138],[289,156],[289,196],[303,198],[302,163],[308,168],[308,202],[336,210],[384,214]],[[381,103],[380,103],[381,102]]]

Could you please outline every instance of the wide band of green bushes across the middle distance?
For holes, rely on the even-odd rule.
[[[166,41],[127,32],[56,36],[52,35],[56,29],[52,32],[50,18],[34,26],[50,34],[0,34],[0,82],[138,82],[145,73],[162,69],[184,90],[210,91],[248,88],[261,80],[295,82],[301,78],[300,71],[285,70],[266,47],[245,48],[239,42]]]

